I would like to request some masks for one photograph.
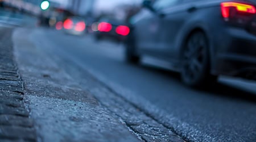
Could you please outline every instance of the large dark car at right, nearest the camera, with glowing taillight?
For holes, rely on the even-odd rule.
[[[144,1],[132,18],[126,59],[171,63],[181,80],[202,87],[217,76],[256,80],[256,1]]]

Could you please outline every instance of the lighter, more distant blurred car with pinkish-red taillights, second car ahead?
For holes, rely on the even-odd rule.
[[[85,33],[86,24],[84,19],[78,16],[73,16],[64,20],[63,28],[64,32],[67,34],[83,35]]]

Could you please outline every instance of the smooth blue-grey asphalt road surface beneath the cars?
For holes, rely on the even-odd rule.
[[[212,89],[193,90],[164,62],[156,66],[147,57],[140,65],[126,64],[122,44],[42,29],[31,40],[80,65],[187,140],[256,141],[256,82],[221,77]]]

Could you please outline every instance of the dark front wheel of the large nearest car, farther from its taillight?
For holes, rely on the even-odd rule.
[[[137,54],[135,47],[135,39],[133,35],[129,35],[125,41],[125,59],[130,64],[138,64],[141,58]]]

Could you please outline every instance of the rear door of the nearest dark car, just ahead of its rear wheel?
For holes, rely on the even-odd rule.
[[[189,28],[187,23],[200,14],[198,7],[200,1],[204,0],[183,0],[177,5],[161,11],[166,16],[160,19],[160,26],[163,28],[160,31],[162,37],[159,40],[159,47],[162,49],[161,53],[166,59],[179,60],[179,48],[181,47],[177,47],[177,43],[179,41],[184,42],[182,41],[184,40],[184,33],[188,32],[184,30]],[[164,30],[164,28],[168,30]]]

